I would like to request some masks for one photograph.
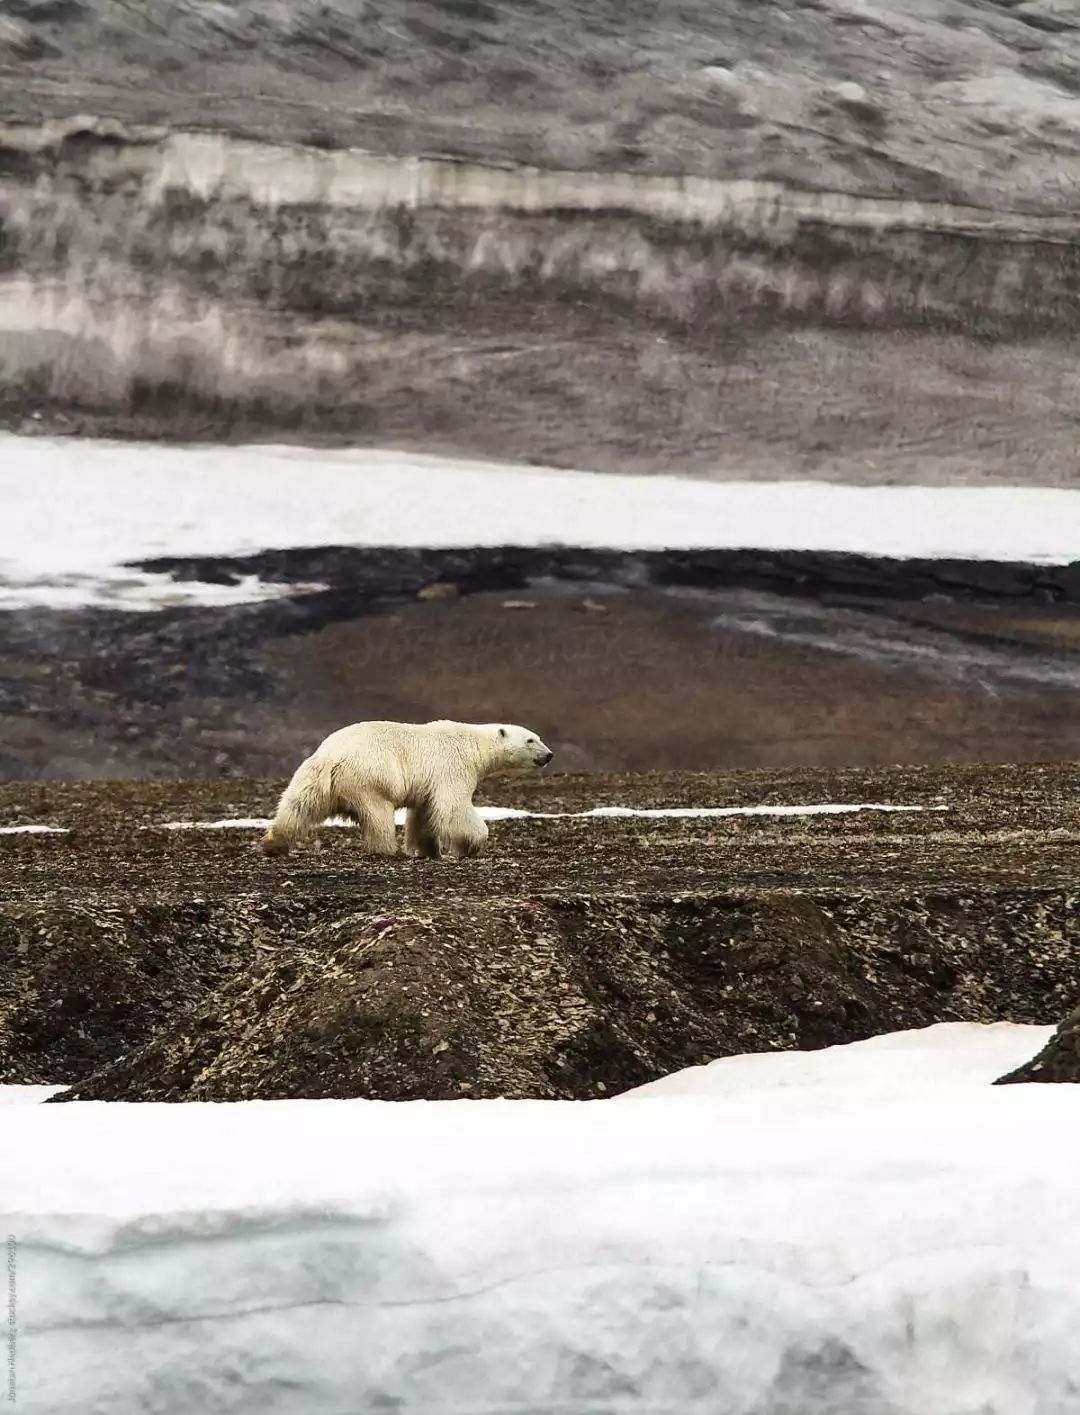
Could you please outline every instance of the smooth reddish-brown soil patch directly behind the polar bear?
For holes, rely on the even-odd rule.
[[[988,692],[955,664],[912,671],[886,652],[875,661],[872,648],[844,652],[841,634],[829,647],[728,628],[718,611],[732,617],[730,606],[709,599],[539,590],[532,610],[505,601],[476,594],[335,623],[279,641],[270,662],[280,681],[316,685],[327,723],[427,717],[435,705],[466,722],[514,720],[528,703],[529,723],[570,770],[1080,756],[1080,681]],[[742,618],[754,617],[752,604]],[[1070,624],[1076,633],[1080,616]],[[879,618],[871,635],[882,645],[895,635],[913,654],[926,642],[903,616]]]

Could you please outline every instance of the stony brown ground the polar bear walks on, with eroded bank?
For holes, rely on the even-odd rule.
[[[1080,770],[531,777],[476,862],[285,862],[280,781],[0,787],[0,1078],[79,1097],[587,1097],[1080,1002]],[[599,816],[636,808],[917,807]]]

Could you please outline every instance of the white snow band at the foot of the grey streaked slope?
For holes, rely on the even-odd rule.
[[[389,451],[13,436],[0,437],[0,608],[294,593],[255,577],[200,584],[125,569],[289,546],[709,546],[1069,563],[1080,543],[1080,491],[1056,488],[711,483]]]

